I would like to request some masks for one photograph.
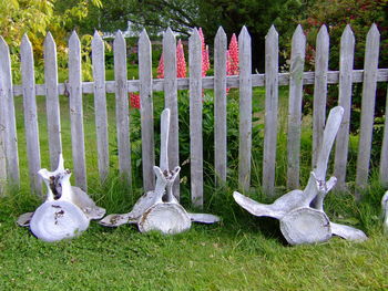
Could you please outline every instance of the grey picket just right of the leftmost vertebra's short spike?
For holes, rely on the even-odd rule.
[[[69,39],[69,108],[75,185],[86,190],[85,144],[83,134],[81,43],[75,31]]]

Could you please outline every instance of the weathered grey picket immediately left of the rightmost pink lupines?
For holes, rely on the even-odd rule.
[[[226,183],[226,33],[219,27],[214,41],[214,169],[217,185]]]

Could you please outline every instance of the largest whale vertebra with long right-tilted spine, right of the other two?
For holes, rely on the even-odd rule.
[[[326,241],[333,235],[363,241],[367,236],[359,229],[331,222],[324,211],[324,199],[336,185],[336,177],[326,181],[327,163],[340,126],[344,108],[334,107],[327,118],[317,166],[310,173],[304,190],[292,190],[270,205],[259,204],[237,191],[235,201],[254,216],[267,216],[280,221],[280,231],[290,245]]]

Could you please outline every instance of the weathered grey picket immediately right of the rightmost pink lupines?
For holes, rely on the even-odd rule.
[[[251,187],[252,148],[252,48],[246,27],[238,35],[239,61],[239,146],[238,185],[247,191]]]

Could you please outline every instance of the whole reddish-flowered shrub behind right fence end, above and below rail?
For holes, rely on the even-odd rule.
[[[329,69],[339,69],[340,37],[347,24],[350,24],[355,33],[355,69],[364,69],[364,54],[366,35],[372,23],[376,23],[380,32],[379,67],[388,66],[388,0],[329,0],[316,1],[307,10],[308,18],[302,23],[307,34],[307,67],[314,70],[315,40],[319,28],[326,24],[330,34]],[[354,84],[350,129],[357,133],[359,129],[361,84]],[[307,102],[312,95],[307,94]],[[328,103],[335,103],[338,98],[338,85],[329,86]],[[382,142],[384,114],[386,106],[386,86],[378,84],[376,94],[375,133],[372,159],[378,160],[378,154]]]

